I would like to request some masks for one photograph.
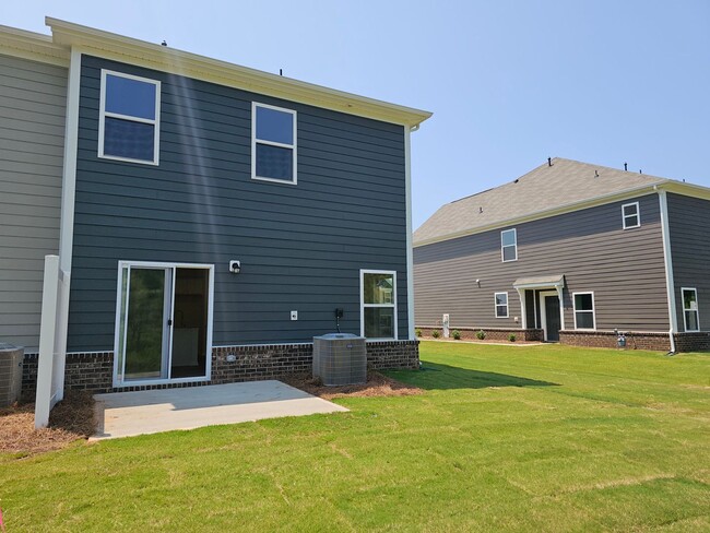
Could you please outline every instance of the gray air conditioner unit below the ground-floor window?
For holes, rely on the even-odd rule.
[[[367,382],[365,337],[352,333],[315,336],[313,377],[326,386]]]

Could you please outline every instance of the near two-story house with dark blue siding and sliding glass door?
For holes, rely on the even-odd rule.
[[[377,367],[418,364],[410,133],[429,112],[47,24],[0,27],[0,340],[25,346],[26,390],[51,253],[68,388],[303,371],[338,327]]]

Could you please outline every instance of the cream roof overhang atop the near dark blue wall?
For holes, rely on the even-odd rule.
[[[83,54],[402,125],[411,129],[415,129],[431,116],[429,111],[335,91],[57,19],[46,17],[45,23],[51,27],[54,44],[68,50],[75,48]]]

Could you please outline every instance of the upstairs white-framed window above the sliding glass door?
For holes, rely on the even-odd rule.
[[[161,82],[102,70],[98,156],[158,164]]]

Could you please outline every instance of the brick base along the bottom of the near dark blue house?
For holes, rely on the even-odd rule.
[[[227,356],[234,354],[234,362]],[[37,387],[37,354],[25,354],[22,369],[22,401],[33,402]],[[205,384],[275,379],[288,374],[312,370],[313,345],[271,344],[256,346],[218,346],[212,348],[212,379],[182,383],[137,384],[115,389],[114,353],[67,354],[64,389],[93,393],[176,389]],[[418,341],[380,341],[367,343],[367,364],[375,369],[418,368]]]

